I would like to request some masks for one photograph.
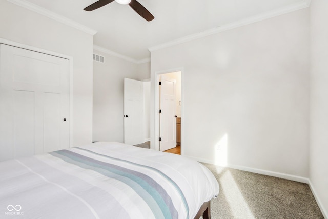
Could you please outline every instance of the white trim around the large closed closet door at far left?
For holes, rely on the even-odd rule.
[[[73,123],[70,122],[73,119],[73,57],[72,56],[68,56],[68,55],[64,55],[64,54],[60,54],[57,52],[53,52],[53,51],[49,51],[49,50],[45,50],[45,49],[40,49],[34,46],[29,46],[29,45],[25,45],[25,44],[21,44],[21,43],[17,43],[14,41],[9,41],[8,39],[4,39],[4,38],[0,38],[0,43],[1,44],[6,44],[8,46],[14,46],[14,47],[19,47],[22,49],[27,49],[27,50],[31,50],[31,51],[35,51],[35,52],[39,52],[39,53],[44,53],[47,55],[52,55],[52,56],[56,56],[59,58],[65,58],[68,59],[69,61],[69,89],[68,89],[68,107],[69,107],[69,134],[68,134],[68,138],[69,138],[69,147],[73,146]]]

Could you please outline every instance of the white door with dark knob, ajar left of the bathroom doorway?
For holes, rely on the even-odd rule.
[[[124,78],[124,143],[144,142],[144,82]]]

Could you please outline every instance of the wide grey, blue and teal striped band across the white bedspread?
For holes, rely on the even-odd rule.
[[[68,150],[55,151],[50,154],[68,163],[78,165],[85,169],[92,169],[129,185],[150,206],[156,218],[178,217],[178,213],[166,191],[152,178],[143,173],[101,162]]]

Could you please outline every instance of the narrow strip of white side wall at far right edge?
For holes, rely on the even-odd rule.
[[[319,206],[328,217],[328,1],[312,1],[310,181]]]

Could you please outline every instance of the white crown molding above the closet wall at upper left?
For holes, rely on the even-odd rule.
[[[18,6],[24,7],[26,9],[28,9],[28,10],[34,11],[34,12],[36,12],[38,14],[42,14],[42,15],[44,15],[46,17],[51,18],[51,19],[54,19],[57,22],[63,23],[65,25],[68,25],[68,26],[71,26],[71,27],[76,28],[78,30],[81,30],[83,32],[86,32],[86,33],[88,33],[90,35],[95,35],[97,33],[96,30],[93,30],[93,29],[91,29],[91,28],[89,28],[87,26],[81,25],[81,24],[79,24],[77,22],[72,21],[71,19],[68,19],[68,18],[66,18],[64,16],[61,16],[59,14],[56,14],[56,13],[54,13],[52,11],[49,11],[49,10],[47,10],[45,8],[42,8],[42,7],[38,6],[38,5],[32,4],[32,3],[27,2],[25,0],[7,0],[7,1],[8,2],[11,2],[13,4],[16,4]]]

